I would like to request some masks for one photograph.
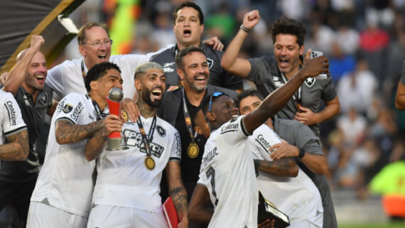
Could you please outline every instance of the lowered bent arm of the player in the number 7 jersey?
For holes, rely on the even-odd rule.
[[[188,206],[188,217],[198,222],[210,222],[214,211],[207,207],[210,203],[210,193],[204,185],[195,185],[193,196]]]

